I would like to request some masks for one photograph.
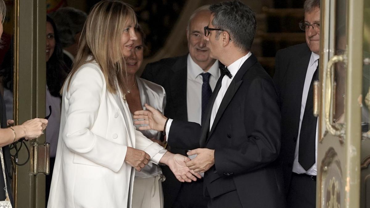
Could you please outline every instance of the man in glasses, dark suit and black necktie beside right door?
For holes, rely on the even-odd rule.
[[[313,80],[318,78],[320,0],[306,0],[299,23],[306,43],[276,53],[274,82],[282,115],[283,168],[289,207],[316,206],[317,118],[313,116]]]

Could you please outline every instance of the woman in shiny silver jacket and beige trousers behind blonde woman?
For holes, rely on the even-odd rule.
[[[140,26],[135,28],[137,40],[134,41],[131,56],[126,59],[127,81],[129,93],[126,95],[127,104],[131,115],[137,110],[145,109],[145,103],[156,106],[156,109],[164,112],[166,93],[164,88],[151,81],[144,80],[135,75],[139,70],[145,51],[145,34]],[[133,119],[133,118],[132,118]],[[136,125],[137,130],[140,125]],[[159,140],[161,131],[140,130],[145,137],[162,145]],[[141,171],[135,172],[134,190],[132,193],[132,207],[135,208],[162,208],[163,192],[162,181],[164,177],[159,165],[145,165]]]

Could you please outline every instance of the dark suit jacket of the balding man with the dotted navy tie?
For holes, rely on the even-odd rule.
[[[187,83],[187,57],[164,58],[154,63],[149,63],[141,77],[161,85],[166,91],[166,108],[164,115],[179,121],[188,120],[188,108],[186,103]],[[186,155],[184,147],[171,147],[172,153]],[[162,172],[166,180],[162,183],[164,195],[164,207],[172,207],[181,187],[172,171],[167,166],[162,166]]]

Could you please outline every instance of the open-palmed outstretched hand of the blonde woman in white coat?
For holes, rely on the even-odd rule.
[[[188,161],[190,158],[184,155],[166,152],[159,162],[166,164],[180,182],[196,181],[196,177],[201,178],[201,175],[186,167]]]

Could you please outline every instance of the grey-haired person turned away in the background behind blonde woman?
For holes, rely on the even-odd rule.
[[[61,7],[50,16],[58,28],[60,43],[63,47],[63,60],[71,70],[87,14],[73,7]]]

